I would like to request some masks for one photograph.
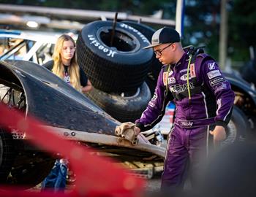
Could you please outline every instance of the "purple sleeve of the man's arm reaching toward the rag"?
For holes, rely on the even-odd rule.
[[[167,74],[167,72],[165,73]],[[136,120],[136,125],[140,128],[140,131],[147,131],[151,129],[162,120],[163,115],[165,115],[165,107],[170,101],[166,93],[166,86],[163,82],[164,69],[159,73],[157,80],[157,87],[154,92],[154,96],[151,101],[148,102],[148,106],[142,113],[140,119]]]

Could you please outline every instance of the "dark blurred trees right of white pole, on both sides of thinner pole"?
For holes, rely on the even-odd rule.
[[[218,59],[220,1],[186,1],[184,42],[206,45]],[[256,1],[229,1],[227,55],[233,61],[248,61],[249,46],[256,47]],[[255,48],[256,50],[256,48]]]

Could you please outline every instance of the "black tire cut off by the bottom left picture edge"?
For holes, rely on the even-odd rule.
[[[14,159],[12,134],[0,128],[0,184],[7,181]]]

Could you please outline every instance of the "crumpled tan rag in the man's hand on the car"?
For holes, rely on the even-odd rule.
[[[132,145],[138,144],[138,138],[135,132],[134,123],[121,123],[121,125],[116,126],[115,134],[116,136],[120,136],[124,139],[129,140],[129,142],[131,142]]]

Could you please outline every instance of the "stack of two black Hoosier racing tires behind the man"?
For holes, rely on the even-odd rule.
[[[80,31],[78,64],[94,86],[87,96],[120,122],[138,119],[151,99],[146,84],[153,50],[138,29],[125,23],[97,20]]]

